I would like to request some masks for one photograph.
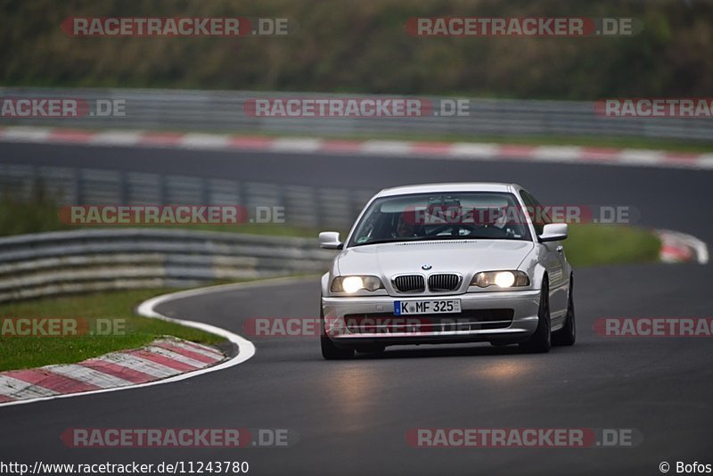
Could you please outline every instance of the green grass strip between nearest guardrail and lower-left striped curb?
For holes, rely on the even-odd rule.
[[[105,336],[0,337],[0,371],[70,364],[115,350],[142,347],[163,335],[205,344],[225,341],[224,338],[209,332],[134,314],[133,309],[143,300],[167,291],[108,291],[2,304],[0,318],[83,317],[90,321],[97,318],[126,319],[126,332],[125,335]]]

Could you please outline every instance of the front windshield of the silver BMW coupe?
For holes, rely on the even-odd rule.
[[[373,201],[348,246],[426,240],[530,240],[512,193],[417,193]]]

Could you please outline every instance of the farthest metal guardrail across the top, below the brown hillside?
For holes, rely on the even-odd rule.
[[[125,117],[10,119],[0,124],[120,127],[311,135],[376,133],[458,135],[600,135],[674,139],[710,139],[710,119],[606,118],[593,103],[571,101],[471,99],[470,115],[421,118],[259,118],[243,111],[249,99],[290,97],[397,97],[397,95],[258,93],[149,89],[45,89],[0,87],[0,97],[68,97],[123,100]],[[442,97],[428,97],[439,103]]]

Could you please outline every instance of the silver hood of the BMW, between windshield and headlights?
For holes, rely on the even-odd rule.
[[[341,252],[340,275],[379,275],[389,280],[404,273],[461,273],[470,278],[479,271],[517,269],[534,244],[510,240],[447,240],[396,242],[356,246]],[[423,266],[430,265],[424,271]]]

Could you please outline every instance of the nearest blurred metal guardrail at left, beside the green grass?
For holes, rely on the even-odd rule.
[[[0,302],[314,274],[333,256],[316,238],[143,228],[24,234],[0,238]]]

